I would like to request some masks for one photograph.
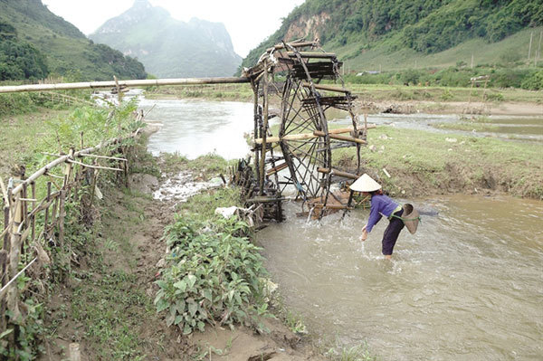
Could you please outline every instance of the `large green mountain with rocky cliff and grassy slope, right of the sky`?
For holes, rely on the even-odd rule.
[[[243,66],[274,43],[302,37],[319,38],[326,51],[359,70],[449,66],[470,63],[472,54],[475,62],[497,62],[528,54],[529,33],[515,42],[506,38],[531,28],[538,40],[540,29],[533,28],[541,24],[541,0],[306,0]]]

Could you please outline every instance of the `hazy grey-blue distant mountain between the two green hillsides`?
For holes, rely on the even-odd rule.
[[[242,62],[224,24],[195,18],[177,21],[147,0],[136,0],[90,39],[138,57],[150,73],[162,78],[231,76]]]

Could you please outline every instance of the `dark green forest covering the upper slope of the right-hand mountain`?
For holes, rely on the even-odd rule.
[[[412,49],[430,54],[473,38],[498,42],[543,24],[541,0],[307,0],[249,53],[243,66],[255,63],[271,44],[291,40],[284,39],[291,24],[324,13],[329,19],[319,28],[320,43],[332,49],[353,44],[359,52],[386,46],[389,52]]]

